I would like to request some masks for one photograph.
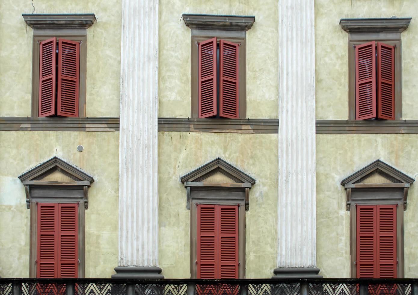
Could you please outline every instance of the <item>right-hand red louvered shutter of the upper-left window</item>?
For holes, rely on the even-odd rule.
[[[80,42],[59,39],[57,115],[78,117]]]

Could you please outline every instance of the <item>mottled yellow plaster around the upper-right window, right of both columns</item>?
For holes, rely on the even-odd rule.
[[[315,0],[316,119],[348,118],[348,35],[341,18],[412,17],[402,36],[402,118],[418,119],[418,2],[415,0]]]

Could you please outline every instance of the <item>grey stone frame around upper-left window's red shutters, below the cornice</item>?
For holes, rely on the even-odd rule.
[[[32,42],[32,106],[31,117],[39,117],[39,54],[40,42],[56,37],[71,41],[80,41],[79,65],[79,115],[75,118],[86,118],[86,71],[87,71],[87,30],[77,29],[34,29]],[[58,47],[57,47],[58,48]],[[52,116],[52,117],[57,117]]]

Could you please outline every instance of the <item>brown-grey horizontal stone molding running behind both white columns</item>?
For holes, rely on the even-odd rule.
[[[158,118],[158,131],[278,133],[278,119]],[[119,131],[119,118],[0,117],[0,131]],[[418,121],[317,120],[316,134],[418,133]]]

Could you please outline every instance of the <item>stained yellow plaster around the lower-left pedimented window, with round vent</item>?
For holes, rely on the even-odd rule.
[[[117,266],[119,132],[0,132],[0,276],[29,277],[29,209],[18,176],[53,156],[92,175],[85,216],[86,277]],[[82,144],[84,151],[77,151]]]

